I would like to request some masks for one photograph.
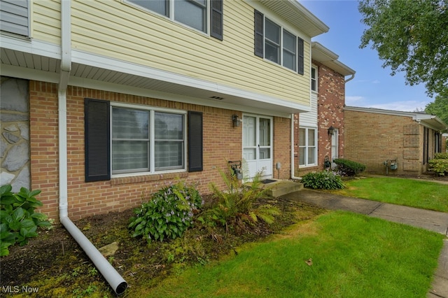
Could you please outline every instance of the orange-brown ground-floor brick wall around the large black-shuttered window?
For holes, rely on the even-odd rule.
[[[204,171],[164,173],[108,181],[85,183],[84,172],[84,99],[104,99],[129,104],[145,104],[164,108],[203,113]],[[57,85],[30,82],[31,188],[42,190],[40,212],[58,218],[59,162],[58,162],[58,107]],[[69,87],[67,90],[67,159],[68,203],[72,219],[88,215],[124,211],[138,206],[142,194],[148,196],[162,185],[176,183],[179,178],[197,184],[203,194],[209,193],[209,183],[223,188],[218,169],[227,171],[227,160],[242,158],[242,127],[232,126],[232,115],[242,113],[174,101],[137,97],[127,94]],[[274,163],[281,162],[281,178],[289,178],[290,120],[274,118]]]

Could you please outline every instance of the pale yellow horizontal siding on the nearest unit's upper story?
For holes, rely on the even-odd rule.
[[[59,1],[34,1],[32,19],[33,38],[60,44]],[[301,76],[253,54],[253,8],[244,1],[224,1],[223,41],[120,0],[71,1],[71,39],[73,50],[309,105],[307,67]]]

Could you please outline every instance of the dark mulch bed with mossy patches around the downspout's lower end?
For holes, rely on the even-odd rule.
[[[209,201],[207,197],[204,200],[206,204]],[[260,220],[244,233],[225,227],[209,229],[194,225],[182,237],[165,239],[162,243],[147,243],[132,237],[132,232],[127,229],[134,215],[132,209],[83,218],[75,224],[97,248],[118,242],[118,251],[108,260],[129,285],[121,297],[142,297],[139,294],[142,290],[157,285],[167,276],[175,276],[190,266],[218,260],[244,243],[260,241],[295,222],[311,220],[325,212],[322,208],[272,198],[260,199],[258,204],[279,208],[281,214],[276,215],[272,225]],[[0,260],[0,287],[10,286],[11,297],[115,297],[102,275],[63,227],[40,231],[27,246],[10,247],[10,255]],[[38,289],[38,292],[22,292],[22,286]],[[5,292],[0,296],[8,297]]]

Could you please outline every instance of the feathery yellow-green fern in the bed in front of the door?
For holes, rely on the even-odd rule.
[[[211,191],[214,199],[217,199],[216,204],[205,213],[203,216],[209,222],[218,222],[226,229],[231,227],[240,227],[244,229],[245,223],[253,224],[258,219],[271,224],[274,222],[274,215],[280,213],[276,206],[271,204],[263,204],[255,206],[258,199],[266,196],[267,187],[260,187],[260,173],[258,173],[251,183],[241,187],[239,180],[235,173],[229,168],[230,174],[220,171],[227,189],[221,191],[218,187],[211,183]]]

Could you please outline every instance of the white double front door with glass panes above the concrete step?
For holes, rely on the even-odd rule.
[[[272,118],[257,115],[243,117],[243,158],[253,178],[261,173],[262,178],[272,178]]]

